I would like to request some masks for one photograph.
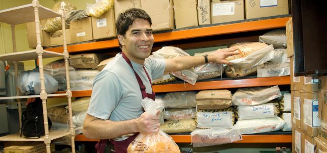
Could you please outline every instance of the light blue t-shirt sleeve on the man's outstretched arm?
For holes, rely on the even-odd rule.
[[[151,65],[151,75],[152,80],[158,79],[164,75],[166,68],[165,59],[158,59],[154,57],[147,58],[149,60],[149,64]]]

